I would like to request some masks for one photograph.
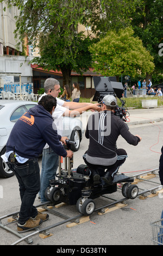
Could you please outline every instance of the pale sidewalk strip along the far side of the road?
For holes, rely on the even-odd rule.
[[[127,111],[129,112],[128,126],[163,121],[163,107],[152,109],[128,109]],[[82,121],[83,129],[86,129],[86,124],[91,114],[92,111],[87,111],[77,117]]]

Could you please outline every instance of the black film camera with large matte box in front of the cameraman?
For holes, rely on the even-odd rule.
[[[127,108],[124,108],[125,101],[121,99],[124,91],[122,83],[117,82],[115,76],[93,76],[93,81],[96,90],[93,101],[101,104],[102,99],[107,94],[117,97],[120,99],[122,106],[116,106],[115,115],[126,122],[129,112],[127,111]]]

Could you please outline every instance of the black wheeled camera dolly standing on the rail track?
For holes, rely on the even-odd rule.
[[[65,148],[71,149],[73,141],[66,140]],[[117,174],[112,184],[96,184],[93,182],[87,165],[80,164],[77,169],[72,169],[73,158],[65,158],[65,169],[61,168],[59,157],[58,180],[50,180],[49,187],[45,191],[45,197],[54,204],[66,203],[76,205],[79,213],[88,216],[95,210],[95,200],[103,194],[111,194],[117,191],[117,183],[124,183],[122,195],[127,199],[135,199],[139,188],[135,184],[134,177]]]

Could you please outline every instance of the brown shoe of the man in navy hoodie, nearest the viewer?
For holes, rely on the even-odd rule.
[[[21,224],[17,224],[17,232],[18,233],[23,233],[23,232],[27,232],[31,229],[35,229],[37,227],[39,227],[42,224],[42,219],[28,219],[28,221],[26,221],[25,224],[21,225]]]

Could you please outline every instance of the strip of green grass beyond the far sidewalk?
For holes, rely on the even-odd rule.
[[[158,106],[162,106],[163,105],[163,100],[162,97],[140,97],[140,98],[136,98],[136,97],[128,97],[128,98],[123,98],[123,100],[126,101],[125,106],[126,108],[135,108],[135,109],[142,109],[141,106],[141,102],[142,100],[148,100],[148,99],[158,99]],[[90,102],[90,98],[82,98],[80,97],[79,102]],[[122,103],[120,102],[119,99],[117,99],[117,104],[118,106],[121,106]]]

